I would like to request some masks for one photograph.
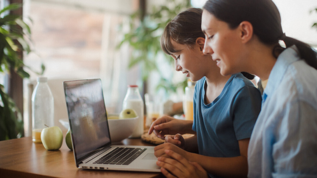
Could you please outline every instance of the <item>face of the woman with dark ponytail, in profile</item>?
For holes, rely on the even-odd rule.
[[[224,21],[218,20],[207,10],[203,10],[201,28],[205,34],[204,54],[211,55],[217,61],[223,76],[240,72],[242,58],[239,31],[230,29]]]

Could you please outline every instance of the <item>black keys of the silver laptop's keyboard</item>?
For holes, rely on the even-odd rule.
[[[107,153],[105,156],[99,158],[94,164],[122,164],[129,165],[133,160],[140,156],[146,148],[126,148],[117,147]]]

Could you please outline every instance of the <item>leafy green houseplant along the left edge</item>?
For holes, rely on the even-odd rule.
[[[23,22],[21,15],[8,13],[21,6],[20,3],[12,3],[0,10],[0,73],[10,75],[10,69],[13,69],[20,77],[29,78],[29,73],[23,69],[27,66],[23,64],[20,54],[31,51],[28,42],[30,28]],[[20,111],[0,84],[0,140],[21,136],[23,119]]]

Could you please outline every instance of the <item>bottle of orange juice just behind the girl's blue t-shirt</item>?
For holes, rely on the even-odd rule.
[[[193,100],[194,100],[194,91],[195,91],[195,83],[188,79],[187,87],[185,88],[185,96],[183,101],[183,110],[185,114],[185,120],[193,120],[194,109],[193,109]]]

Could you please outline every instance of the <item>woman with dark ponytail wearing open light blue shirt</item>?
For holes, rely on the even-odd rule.
[[[283,33],[271,0],[209,0],[202,30],[204,54],[222,75],[247,71],[268,80],[249,143],[248,176],[316,176],[316,52]]]

